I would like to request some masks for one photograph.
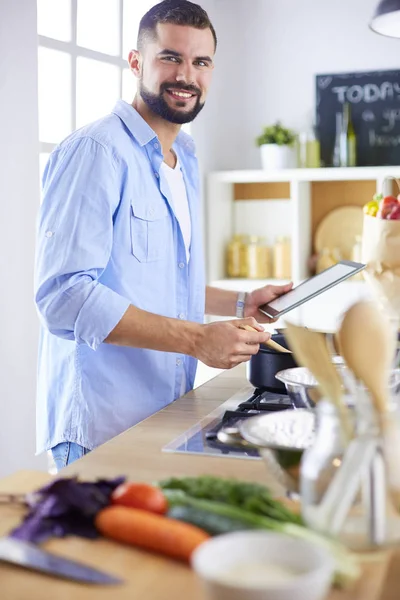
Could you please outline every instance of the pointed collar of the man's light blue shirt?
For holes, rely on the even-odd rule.
[[[131,104],[128,104],[128,102],[125,102],[124,100],[118,100],[111,112],[117,115],[121,121],[125,123],[129,131],[141,146],[145,146],[157,137],[157,134],[153,131],[150,125],[146,123],[143,117],[141,117],[137,110],[133,108]],[[191,154],[195,154],[194,141],[190,135],[184,131],[180,131],[176,136],[173,146],[175,145],[178,148],[183,148]]]

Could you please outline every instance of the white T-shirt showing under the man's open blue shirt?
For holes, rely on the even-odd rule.
[[[186,194],[185,181],[177,158],[175,169],[169,167],[165,162],[161,163],[161,168],[168,181],[171,191],[172,201],[174,203],[174,213],[182,231],[183,241],[185,243],[186,260],[190,258],[190,241],[192,237],[192,224],[190,221],[189,203]]]

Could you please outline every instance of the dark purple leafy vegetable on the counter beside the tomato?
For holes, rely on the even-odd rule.
[[[40,544],[50,537],[77,535],[98,537],[94,518],[110,503],[114,489],[125,481],[98,479],[80,482],[76,477],[60,478],[26,496],[29,511],[10,537]]]

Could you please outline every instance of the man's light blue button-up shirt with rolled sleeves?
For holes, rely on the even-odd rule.
[[[35,273],[42,323],[37,452],[92,449],[193,387],[197,362],[103,343],[130,304],[202,323],[205,280],[193,140],[173,146],[190,209],[189,263],[154,131],[126,102],[70,135],[43,175]]]

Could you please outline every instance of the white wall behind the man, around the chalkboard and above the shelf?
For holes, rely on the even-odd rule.
[[[400,68],[400,40],[368,28],[377,3],[214,0],[220,44],[202,122],[204,164],[260,168],[255,137],[277,118],[297,130],[307,125],[318,73]]]

